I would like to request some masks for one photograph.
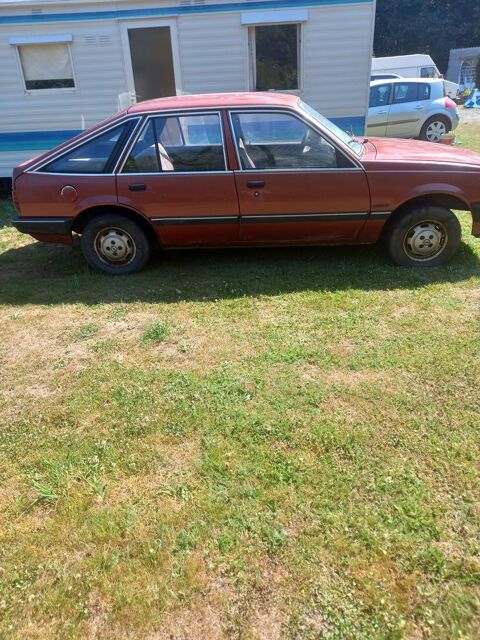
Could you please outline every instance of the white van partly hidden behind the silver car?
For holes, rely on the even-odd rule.
[[[372,58],[372,80],[399,76],[402,78],[443,78],[432,58],[425,53]],[[444,85],[445,95],[455,98],[459,90],[458,84],[444,80]]]

